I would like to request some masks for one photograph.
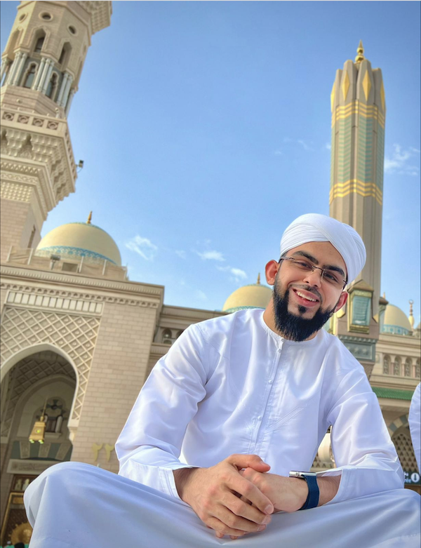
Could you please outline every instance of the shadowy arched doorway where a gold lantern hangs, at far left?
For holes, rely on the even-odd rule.
[[[29,483],[44,469],[70,460],[68,421],[77,385],[74,366],[51,346],[25,349],[5,370],[1,382],[2,545],[8,540],[25,542],[31,531],[23,507]],[[44,406],[44,443],[29,443]]]

